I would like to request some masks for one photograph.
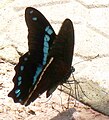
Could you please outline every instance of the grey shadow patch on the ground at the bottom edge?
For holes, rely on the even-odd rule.
[[[70,108],[62,113],[59,113],[57,116],[50,120],[75,120],[73,117],[74,112],[76,112],[75,108]]]

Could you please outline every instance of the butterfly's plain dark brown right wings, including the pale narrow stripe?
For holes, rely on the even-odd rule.
[[[38,83],[26,101],[26,105],[34,101],[39,95],[47,91],[47,97],[59,84],[66,82],[72,72],[71,64],[74,51],[74,28],[69,19],[66,19],[53,41],[47,65],[43,69]]]

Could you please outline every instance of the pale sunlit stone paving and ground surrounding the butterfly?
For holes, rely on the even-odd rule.
[[[89,100],[82,96],[82,101],[109,115],[109,0],[1,0],[0,120],[108,120],[109,117],[81,103],[74,107],[73,98],[71,109],[63,112],[60,99],[66,105],[68,96],[60,95],[59,91],[54,92],[48,102],[45,102],[47,99],[43,95],[27,108],[14,104],[7,97],[13,87],[11,80],[19,58],[18,52],[25,53],[28,49],[24,19],[28,6],[40,10],[56,33],[65,18],[72,20],[75,28],[74,75],[76,80],[85,82],[82,87],[91,98]],[[87,87],[89,83],[92,85],[91,90]]]

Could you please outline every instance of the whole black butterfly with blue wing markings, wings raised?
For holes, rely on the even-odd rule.
[[[25,11],[28,26],[29,51],[15,66],[14,88],[8,94],[24,105],[29,105],[42,93],[50,96],[59,84],[72,73],[74,29],[66,19],[56,36],[47,19],[36,9]]]

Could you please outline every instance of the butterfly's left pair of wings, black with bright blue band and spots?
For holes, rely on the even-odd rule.
[[[38,82],[56,36],[47,19],[32,7],[26,8],[25,21],[28,27],[29,51],[21,56],[15,66],[14,88],[8,94],[14,102],[21,104],[24,104]]]

